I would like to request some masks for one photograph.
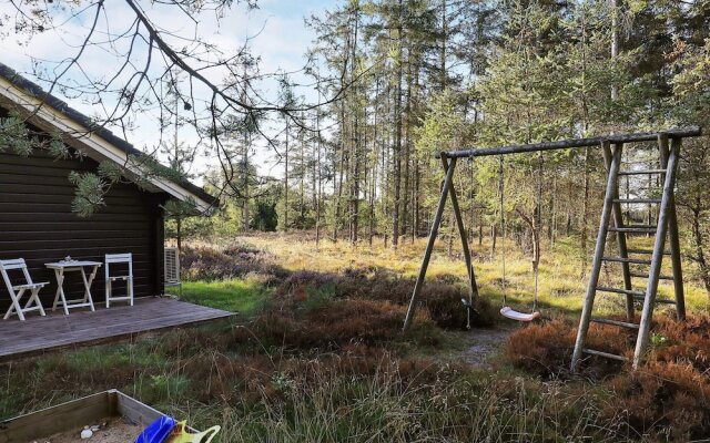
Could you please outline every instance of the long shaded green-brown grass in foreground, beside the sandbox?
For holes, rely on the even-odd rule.
[[[589,406],[536,382],[362,346],[337,356],[242,350],[229,358],[214,341],[191,348],[202,332],[175,330],[130,349],[101,346],[2,367],[0,378],[11,383],[0,389],[0,415],[119,388],[196,427],[221,424],[219,442],[561,441],[592,432]],[[600,441],[611,440],[607,432],[594,430]]]

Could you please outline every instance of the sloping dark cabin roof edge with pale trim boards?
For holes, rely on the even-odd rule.
[[[125,166],[129,156],[148,155],[106,127],[97,125],[91,117],[49,94],[10,66],[0,63],[0,106],[8,105],[29,115],[28,120],[42,130],[59,130],[71,135],[77,143],[68,144],[97,161],[110,159]],[[201,212],[209,212],[219,205],[217,198],[186,179],[150,177],[149,181],[152,184],[150,190],[165,192],[183,202],[194,200]]]

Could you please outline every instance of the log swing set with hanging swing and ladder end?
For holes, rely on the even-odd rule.
[[[605,193],[604,208],[601,214],[601,220],[599,225],[599,231],[597,236],[597,244],[595,247],[595,256],[592,259],[592,269],[589,276],[589,282],[587,285],[587,291],[585,296],[585,302],[582,313],[580,318],[579,329],[577,333],[577,341],[575,343],[575,354],[572,357],[572,371],[576,371],[581,356],[596,354],[616,360],[627,360],[623,356],[615,356],[606,352],[591,350],[585,348],[587,338],[587,331],[590,322],[599,322],[606,324],[613,324],[621,328],[638,330],[638,338],[636,341],[636,351],[633,356],[633,367],[638,367],[641,358],[645,353],[646,347],[649,341],[650,322],[653,313],[653,307],[656,303],[672,303],[676,305],[676,312],[680,320],[684,319],[684,293],[682,285],[682,270],[680,260],[680,246],[678,238],[678,220],[676,216],[674,204],[674,184],[677,175],[678,157],[680,153],[681,142],[684,137],[696,137],[701,135],[700,127],[689,126],[682,128],[673,128],[663,132],[647,132],[647,133],[632,133],[632,134],[615,134],[604,137],[591,138],[576,138],[566,140],[559,142],[547,143],[534,143],[526,145],[508,145],[491,148],[480,150],[464,150],[464,151],[449,151],[442,152],[437,155],[437,158],[442,161],[442,166],[446,174],[444,184],[442,186],[442,194],[439,195],[438,206],[432,224],[432,230],[428,237],[424,258],[422,260],[422,267],[417,276],[414,290],[412,292],[412,299],[409,300],[409,308],[404,321],[404,331],[407,331],[414,319],[414,313],[417,308],[417,299],[424,285],[426,271],[434,250],[434,243],[436,241],[438,229],[442,224],[442,217],[446,200],[450,198],[452,208],[454,210],[454,217],[458,228],[458,234],[462,240],[462,249],[464,253],[464,260],[466,262],[466,269],[468,274],[468,300],[463,299],[464,308],[467,310],[466,327],[470,329],[471,316],[476,315],[475,300],[479,297],[478,286],[476,284],[476,274],[471,264],[470,249],[468,246],[468,239],[466,229],[464,226],[460,208],[458,205],[458,198],[456,190],[454,189],[454,172],[456,169],[456,162],[459,158],[469,158],[475,161],[476,157],[485,156],[499,156],[499,172],[498,172],[498,193],[500,204],[500,227],[503,230],[503,246],[501,246],[501,274],[503,274],[503,308],[500,313],[511,320],[530,322],[541,318],[541,313],[538,310],[538,278],[539,278],[539,248],[536,246],[535,259],[532,260],[532,271],[535,274],[535,292],[532,309],[530,312],[517,311],[508,306],[507,291],[506,291],[506,222],[505,222],[505,161],[504,157],[509,154],[521,153],[537,153],[539,156],[539,167],[537,172],[537,196],[536,196],[536,214],[535,217],[540,217],[541,207],[541,194],[542,194],[542,153],[546,151],[555,150],[571,150],[571,148],[587,148],[587,147],[600,147],[605,158],[605,165],[607,167],[607,188]],[[658,143],[658,167],[653,169],[628,169],[620,171],[621,166],[621,152],[626,145],[635,146],[638,143],[643,142],[657,142]],[[657,175],[660,177],[659,182],[662,183],[661,198],[619,198],[619,176],[631,175]],[[648,204],[659,205],[658,208],[658,223],[656,226],[648,225],[633,225],[632,222],[625,220],[623,213],[621,210],[621,204]],[[538,226],[539,226],[539,218]],[[605,256],[605,247],[607,243],[607,236],[609,233],[616,233],[619,257]],[[652,250],[630,249],[627,247],[627,236],[632,234],[656,234],[655,246]],[[665,250],[666,237],[669,237],[670,251]],[[650,255],[649,259],[640,259],[633,255]],[[663,256],[670,256],[672,264],[672,276],[661,276],[661,261]],[[599,275],[601,271],[602,262],[618,262],[621,264],[623,275],[623,288],[607,288],[598,286]],[[648,270],[632,271],[630,266],[648,266]],[[645,278],[647,280],[646,290],[635,290],[632,287],[632,278]],[[660,279],[673,280],[674,300],[657,299],[658,284]],[[618,321],[612,319],[595,318],[591,316],[594,309],[595,297],[598,292],[607,292],[615,295],[626,296],[626,310],[627,321]],[[642,305],[640,322],[636,322],[635,319],[635,301],[640,301]]]

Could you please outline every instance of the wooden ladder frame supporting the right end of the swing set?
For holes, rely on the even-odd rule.
[[[670,138],[668,134],[659,134],[658,148],[660,154],[660,167],[658,169],[630,169],[620,171],[621,152],[623,143],[602,142],[601,148],[607,166],[607,189],[604,199],[604,209],[595,256],[592,260],[591,274],[582,306],[581,319],[577,331],[575,351],[572,354],[571,370],[576,372],[584,354],[600,356],[609,359],[627,361],[623,356],[617,356],[587,348],[587,332],[591,322],[611,324],[619,328],[637,330],[636,350],[633,352],[633,368],[638,368],[646,353],[649,341],[649,331],[653,308],[656,303],[676,305],[676,312],[679,319],[686,316],[682,268],[680,261],[680,245],[678,238],[678,219],[676,215],[676,202],[673,188],[678,169],[678,158],[680,153],[681,138]],[[618,182],[619,176],[629,175],[659,175],[663,177],[663,188],[661,198],[619,198]],[[649,204],[660,205],[658,209],[657,225],[626,225],[621,210],[622,204]],[[613,218],[612,218],[613,217]],[[611,222],[613,220],[613,224]],[[607,256],[605,248],[609,233],[616,233],[619,255]],[[652,250],[629,249],[627,247],[627,236],[629,234],[655,234],[656,239]],[[669,251],[666,251],[666,237],[669,237]],[[661,275],[661,264],[663,256],[670,256],[672,262],[672,276]],[[604,262],[618,262],[621,265],[623,274],[623,288],[599,286],[599,275]],[[648,266],[648,274],[631,271],[631,265]],[[645,278],[646,290],[636,290],[632,286],[633,278]],[[676,299],[657,299],[659,280],[672,280]],[[625,296],[626,298],[626,321],[612,320],[608,318],[592,317],[596,295],[599,292]],[[640,321],[635,321],[635,302],[642,301]]]

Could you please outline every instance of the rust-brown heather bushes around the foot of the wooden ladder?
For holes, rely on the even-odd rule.
[[[686,322],[659,316],[648,362],[636,371],[605,358],[587,358],[587,378],[604,379],[613,394],[601,411],[617,433],[687,441],[710,435],[710,319]],[[577,324],[562,319],[528,324],[510,336],[506,357],[516,368],[545,378],[567,377]],[[617,327],[591,324],[587,344],[605,352],[632,356],[636,334]]]

